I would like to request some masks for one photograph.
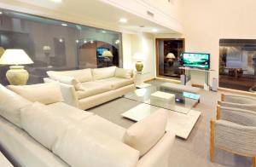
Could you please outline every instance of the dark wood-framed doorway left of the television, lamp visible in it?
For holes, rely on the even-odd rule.
[[[183,74],[179,67],[184,49],[183,38],[156,38],[156,76],[179,79]]]

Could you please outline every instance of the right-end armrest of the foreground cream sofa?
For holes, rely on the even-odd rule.
[[[166,132],[160,141],[140,158],[137,167],[169,167],[174,140],[175,135],[172,132]]]

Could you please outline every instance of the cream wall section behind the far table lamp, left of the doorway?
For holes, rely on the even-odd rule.
[[[154,36],[148,33],[127,34],[123,33],[124,67],[135,69],[136,60],[133,55],[140,53],[143,60],[143,79],[155,77],[155,49]]]

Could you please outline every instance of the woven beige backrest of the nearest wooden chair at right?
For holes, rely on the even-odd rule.
[[[242,126],[230,121],[217,120],[214,124],[215,146],[233,153],[256,155],[256,127]]]

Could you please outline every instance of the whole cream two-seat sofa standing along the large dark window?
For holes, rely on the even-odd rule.
[[[133,71],[116,66],[47,73],[49,78],[44,78],[44,82],[59,81],[65,102],[82,110],[136,89]]]

